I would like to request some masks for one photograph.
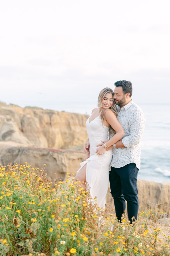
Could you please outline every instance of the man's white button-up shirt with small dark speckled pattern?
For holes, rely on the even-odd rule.
[[[117,106],[118,121],[123,127],[125,136],[122,143],[126,148],[114,148],[111,166],[120,168],[126,164],[135,163],[140,169],[141,138],[144,132],[146,119],[141,108],[133,100],[120,110]],[[111,136],[109,135],[109,138]]]

